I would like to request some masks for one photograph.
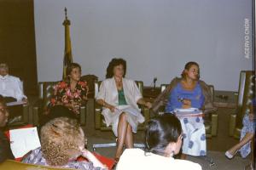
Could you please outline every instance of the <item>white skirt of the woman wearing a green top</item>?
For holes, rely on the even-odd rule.
[[[117,137],[118,132],[117,128],[119,125],[119,116],[121,113],[125,113],[127,122],[131,125],[132,132],[137,133],[137,125],[138,123],[142,123],[145,121],[145,118],[141,114],[141,112],[131,105],[119,105],[116,106],[116,110],[114,112],[110,111],[109,109],[104,109],[102,111],[102,115],[105,118],[105,122],[107,126],[111,125],[114,135]]]

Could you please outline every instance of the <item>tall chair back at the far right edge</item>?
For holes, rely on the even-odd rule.
[[[242,119],[247,111],[247,101],[250,98],[251,83],[253,83],[253,71],[241,71],[236,112],[236,127],[242,127]]]

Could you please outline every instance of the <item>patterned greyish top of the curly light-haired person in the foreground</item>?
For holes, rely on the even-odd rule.
[[[41,147],[32,150],[31,154],[26,156],[22,162],[31,163],[42,166],[50,166],[47,164]],[[102,170],[101,167],[93,167],[93,163],[90,161],[69,161],[66,165],[61,167],[74,168],[74,169],[82,169],[82,170]]]

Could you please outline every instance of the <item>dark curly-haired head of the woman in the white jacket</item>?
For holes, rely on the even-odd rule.
[[[125,59],[112,59],[107,68],[106,78],[125,77],[126,61]]]

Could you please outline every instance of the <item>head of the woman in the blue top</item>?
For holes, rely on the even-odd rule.
[[[184,66],[184,70],[181,76],[183,77],[183,79],[190,78],[192,80],[199,80],[200,78],[199,65],[194,61],[189,61]]]

